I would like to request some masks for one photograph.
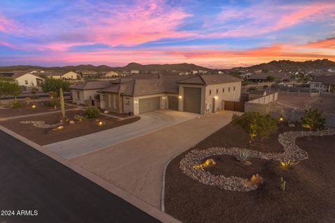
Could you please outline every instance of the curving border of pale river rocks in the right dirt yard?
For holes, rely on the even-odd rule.
[[[317,132],[284,132],[278,135],[278,141],[283,145],[283,153],[262,153],[259,151],[253,151],[246,148],[223,148],[223,147],[211,147],[206,150],[193,150],[185,155],[185,157],[180,161],[179,168],[187,176],[198,180],[200,183],[205,185],[213,185],[224,190],[232,190],[239,192],[248,192],[257,189],[257,185],[253,185],[246,178],[240,178],[237,176],[223,176],[214,175],[206,171],[204,168],[195,169],[193,168],[196,164],[200,164],[207,157],[214,155],[238,155],[239,151],[248,151],[249,157],[265,159],[265,160],[290,160],[290,161],[300,161],[308,159],[308,153],[299,146],[295,144],[295,139],[299,137],[308,136],[327,136],[335,134],[334,128],[329,128],[326,130],[320,130]]]

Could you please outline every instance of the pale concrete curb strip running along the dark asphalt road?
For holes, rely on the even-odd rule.
[[[128,194],[128,192],[121,190],[121,188],[112,185],[111,183],[107,182],[106,180],[103,180],[102,178],[99,178],[98,176],[92,174],[91,172],[87,171],[86,169],[83,169],[80,166],[77,166],[73,162],[70,162],[69,160],[66,160],[64,157],[61,157],[60,155],[57,155],[56,153],[53,153],[52,151],[48,150],[47,148],[40,146],[33,141],[30,141],[29,139],[26,139],[22,137],[20,134],[17,134],[11,130],[8,130],[7,128],[4,128],[2,125],[0,125],[0,130],[3,132],[6,132],[7,134],[10,134],[12,137],[15,137],[15,139],[18,139],[22,141],[24,144],[27,144],[28,146],[31,146],[32,148],[36,149],[37,151],[40,151],[40,153],[43,153],[47,155],[48,157],[51,157],[53,160],[63,164],[64,166],[68,167],[69,169],[72,169],[77,174],[80,174],[81,176],[84,176],[85,178],[91,180],[93,183],[96,183],[97,185],[103,187],[105,190],[108,190],[109,192],[112,192],[112,194],[117,195],[121,199],[124,199],[128,203],[131,203],[136,208],[139,208],[144,213],[147,213],[148,215],[151,215],[152,217],[156,218],[157,220],[161,222],[167,222],[167,223],[177,223],[178,220],[174,219],[172,216],[163,213],[161,210],[158,210],[158,208],[155,208],[148,203],[145,203],[144,201],[138,199],[137,197],[134,197],[132,194]]]

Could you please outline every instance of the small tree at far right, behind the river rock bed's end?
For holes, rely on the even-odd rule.
[[[322,118],[322,112],[319,112],[318,109],[306,110],[304,116],[301,117],[301,126],[308,128],[310,132],[324,129],[325,123],[325,118]]]

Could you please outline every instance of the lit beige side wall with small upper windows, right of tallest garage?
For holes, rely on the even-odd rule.
[[[224,92],[223,89],[225,89]],[[218,93],[216,93],[216,90],[218,90]],[[209,94],[209,91],[211,91],[211,94]],[[207,85],[205,88],[204,114],[211,113],[213,98],[215,100],[215,112],[223,109],[225,100],[239,102],[241,98],[241,82]]]

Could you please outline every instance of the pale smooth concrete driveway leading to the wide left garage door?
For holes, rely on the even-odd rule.
[[[65,157],[71,159],[80,155],[106,148],[122,141],[140,137],[149,132],[154,132],[171,125],[188,121],[198,117],[198,114],[188,112],[177,112],[173,110],[158,110],[141,114],[140,121],[128,125],[122,125],[110,130],[104,130],[82,137],[59,141],[45,147]]]

